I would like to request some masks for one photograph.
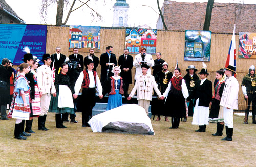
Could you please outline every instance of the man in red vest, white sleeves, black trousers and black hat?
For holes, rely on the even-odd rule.
[[[90,127],[88,121],[92,118],[92,110],[95,106],[96,90],[99,98],[102,99],[102,86],[96,71],[93,70],[94,63],[92,59],[86,59],[86,70],[83,70],[75,84],[75,93],[73,97],[76,99],[82,86],[82,127]]]

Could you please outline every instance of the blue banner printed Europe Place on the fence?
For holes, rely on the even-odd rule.
[[[28,46],[30,53],[41,60],[46,52],[46,33],[46,25],[0,24],[0,59],[8,58],[20,65],[23,48]]]

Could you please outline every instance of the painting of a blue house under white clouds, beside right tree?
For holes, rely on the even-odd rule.
[[[211,31],[185,31],[185,61],[210,61]]]

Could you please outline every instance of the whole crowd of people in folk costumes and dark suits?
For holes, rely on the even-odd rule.
[[[152,55],[146,53],[146,48],[141,48],[135,59],[129,55],[128,49],[124,49],[117,61],[112,46],[106,47],[106,52],[100,58],[90,48],[90,54],[84,59],[78,54],[78,48],[74,48],[73,54],[66,57],[61,54],[61,48],[57,47],[55,54],[42,56],[44,64],[40,66],[39,60],[28,48],[24,51],[24,63],[20,64],[17,71],[12,68],[8,58],[4,58],[0,66],[1,119],[17,119],[14,138],[26,139],[30,133],[35,133],[32,131],[34,117],[38,117],[38,130],[49,130],[45,126],[48,112],[55,113],[56,128],[67,128],[63,122],[69,122],[69,115],[70,123],[77,123],[75,113],[78,105],[82,113],[82,127],[90,127],[88,121],[92,118],[97,92],[100,99],[108,95],[106,110],[121,106],[122,96],[131,100],[136,95],[138,105],[145,109],[147,115],[151,103],[152,115],[157,115],[156,121],[161,120],[161,115],[165,116],[165,121],[171,117],[170,129],[179,128],[180,120],[186,122],[188,116],[193,116],[192,124],[199,125],[196,132],[205,132],[209,122],[217,123],[217,132],[212,135],[221,136],[225,125],[227,136],[222,140],[232,140],[233,110],[238,109],[239,90],[233,66],[216,71],[212,94],[212,82],[207,79],[209,73],[204,63],[199,77],[194,65],[188,66],[187,74],[182,77],[178,67],[174,73],[168,71],[168,63],[161,59],[160,52],[156,53],[157,59],[154,60]],[[99,64],[100,79],[97,74]],[[136,68],[135,84],[129,94],[133,66]],[[252,102],[252,119],[256,124],[254,66],[249,68],[249,74],[243,78],[241,85],[248,102],[247,111]],[[82,93],[78,99],[81,88]],[[248,124],[248,113],[245,124]]]

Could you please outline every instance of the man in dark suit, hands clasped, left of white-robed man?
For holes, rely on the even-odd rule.
[[[120,55],[118,58],[118,65],[121,66],[120,76],[123,78],[124,96],[126,98],[129,96],[128,94],[129,84],[132,84],[132,68],[133,68],[133,57],[128,53],[129,53],[129,50],[124,49],[123,55]]]

